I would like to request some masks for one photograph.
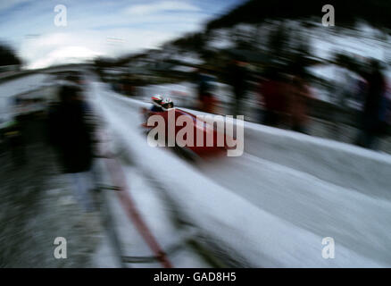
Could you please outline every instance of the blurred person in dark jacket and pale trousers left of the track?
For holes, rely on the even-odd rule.
[[[93,130],[87,122],[87,103],[76,85],[63,86],[59,96],[60,103],[52,107],[48,116],[49,139],[57,150],[62,171],[70,174],[74,196],[91,211]]]

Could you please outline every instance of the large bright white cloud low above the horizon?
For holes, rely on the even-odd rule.
[[[37,69],[52,64],[79,63],[98,55],[115,57],[143,48],[158,47],[175,33],[154,29],[105,29],[50,33],[23,41],[20,52],[27,68]],[[121,41],[112,41],[112,38]]]

